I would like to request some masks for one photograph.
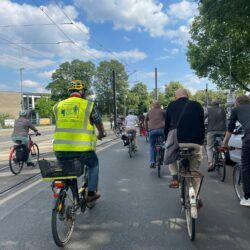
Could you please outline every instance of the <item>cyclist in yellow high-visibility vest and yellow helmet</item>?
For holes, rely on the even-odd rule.
[[[100,198],[97,192],[99,162],[95,152],[96,135],[105,137],[104,126],[94,102],[86,99],[86,85],[81,80],[70,83],[69,98],[54,106],[56,129],[53,150],[59,161],[80,158],[89,168],[87,202]]]

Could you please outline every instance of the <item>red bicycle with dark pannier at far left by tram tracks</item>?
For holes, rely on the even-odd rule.
[[[24,163],[27,163],[27,160],[30,157],[30,162],[34,164],[34,167],[37,165],[39,161],[39,147],[36,143],[34,143],[31,139],[32,136],[38,136],[40,134],[28,134],[29,142],[28,148],[26,145],[22,144],[22,141],[17,140],[16,145],[11,147],[9,154],[9,166],[10,171],[18,175],[22,169]]]

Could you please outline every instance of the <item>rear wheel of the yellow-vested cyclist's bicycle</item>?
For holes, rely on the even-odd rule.
[[[52,235],[57,246],[65,246],[75,226],[75,197],[72,190],[62,189],[52,210]]]

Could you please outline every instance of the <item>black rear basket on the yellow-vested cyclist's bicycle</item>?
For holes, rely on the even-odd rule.
[[[48,161],[43,159],[38,164],[43,178],[79,177],[83,174],[82,164],[78,159],[64,161]]]

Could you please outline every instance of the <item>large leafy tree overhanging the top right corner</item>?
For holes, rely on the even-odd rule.
[[[199,77],[208,77],[220,88],[232,84],[250,90],[249,0],[200,0],[199,15],[191,28],[188,61]]]

